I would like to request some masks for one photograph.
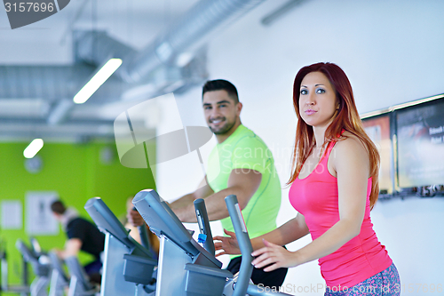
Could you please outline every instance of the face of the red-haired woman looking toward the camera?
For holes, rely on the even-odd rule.
[[[327,127],[336,115],[336,92],[327,76],[311,72],[302,79],[299,89],[299,115],[305,124]]]

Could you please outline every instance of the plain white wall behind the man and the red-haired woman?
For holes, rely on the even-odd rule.
[[[261,4],[209,46],[210,78],[225,78],[237,86],[244,105],[242,123],[274,151],[282,187],[289,178],[296,127],[292,82],[299,68],[317,61],[337,63],[352,82],[361,113],[444,92],[443,1],[312,0],[270,27],[260,24],[266,13],[285,2]],[[200,89],[178,98],[184,124],[204,124],[200,104]],[[192,176],[182,181],[197,184]],[[288,189],[282,196],[279,224],[296,213]],[[377,236],[400,271],[405,294],[444,285],[443,213],[444,200],[437,197],[381,201],[372,212]],[[304,238],[289,249],[308,242]],[[296,288],[292,293],[297,295],[323,294],[311,289],[324,284],[316,262],[292,268],[285,284],[305,288]],[[414,292],[408,292],[408,284]],[[423,284],[419,292],[417,284]]]

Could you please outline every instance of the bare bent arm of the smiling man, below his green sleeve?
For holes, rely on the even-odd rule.
[[[209,220],[221,220],[229,216],[224,200],[229,195],[237,196],[239,205],[243,210],[249,203],[251,196],[258,190],[261,180],[262,174],[258,171],[234,169],[228,177],[228,187],[205,198]],[[188,204],[180,204],[181,206],[178,204],[176,206],[173,203],[174,205],[171,204],[171,209],[182,222],[196,222],[193,204],[195,198],[193,199],[193,196],[187,196],[186,198],[189,198],[187,200]]]

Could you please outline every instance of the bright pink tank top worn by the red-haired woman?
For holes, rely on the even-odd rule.
[[[328,170],[330,142],[314,171],[305,179],[296,179],[289,189],[289,202],[305,217],[312,239],[315,240],[339,220],[337,178]],[[352,287],[385,270],[392,260],[379,243],[370,220],[371,178],[367,185],[367,203],[359,236],[353,237],[336,252],[319,259],[321,275],[330,288]]]

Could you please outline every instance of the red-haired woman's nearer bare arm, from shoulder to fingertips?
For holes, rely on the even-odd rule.
[[[336,151],[335,151],[336,150]],[[316,260],[337,251],[342,245],[359,235],[364,218],[367,183],[369,179],[369,155],[361,141],[349,137],[337,142],[330,157],[337,173],[339,221],[312,243],[288,252],[275,244],[265,242],[266,247],[256,252],[253,260],[257,268],[274,263],[265,268],[295,267],[305,262]],[[321,194],[321,193],[320,193]]]

